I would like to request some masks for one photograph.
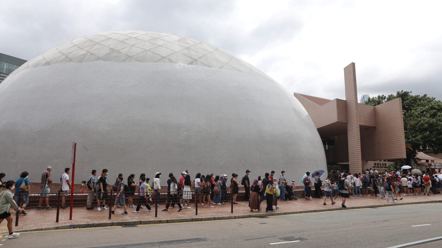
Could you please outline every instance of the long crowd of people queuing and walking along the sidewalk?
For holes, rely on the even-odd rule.
[[[37,210],[53,210],[54,207],[49,205],[50,184],[52,167],[47,167],[43,171],[40,184],[40,198]],[[170,208],[177,206],[178,212],[184,209],[191,209],[191,202],[193,206],[201,207],[215,207],[227,203],[226,193],[229,186],[232,190],[232,202],[238,204],[236,201],[239,192],[239,185],[244,187],[244,201],[248,202],[251,212],[260,211],[263,200],[266,200],[265,212],[276,211],[279,209],[278,201],[287,201],[295,199],[294,192],[296,185],[294,180],[289,185],[289,181],[285,178],[285,171],[281,171],[279,176],[275,176],[275,172],[265,173],[264,178],[259,176],[251,180],[249,178],[250,170],[246,170],[242,179],[238,179],[238,174],[233,173],[230,178],[230,185],[228,185],[228,176],[226,174],[202,175],[198,173],[192,178],[188,174],[188,170],[181,173],[179,179],[175,178],[173,173],[168,174],[167,185],[167,199],[162,211],[169,211]],[[65,168],[65,173],[61,175],[61,209],[69,209],[66,207],[66,197],[69,197],[69,190],[72,185],[69,181],[70,168]],[[92,203],[96,199],[96,210],[109,210],[106,205],[106,200],[109,198],[108,190],[115,193],[114,207],[111,214],[115,214],[116,208],[123,208],[122,215],[127,215],[127,208],[135,208],[133,213],[139,213],[141,209],[147,208],[150,212],[152,207],[149,201],[155,204],[156,200],[160,198],[161,189],[161,173],[157,172],[153,177],[152,184],[150,178],[146,178],[145,174],[140,174],[138,181],[135,181],[135,174],[130,174],[127,180],[123,178],[122,174],[118,174],[115,183],[112,185],[107,176],[109,171],[103,169],[98,174],[97,170],[91,171],[91,176],[88,181],[82,181],[79,186],[81,193],[87,194],[88,210],[94,210]],[[30,184],[28,180],[29,174],[23,171],[17,181],[7,181],[4,183],[2,179],[5,177],[4,173],[0,173],[0,223],[4,219],[8,221],[9,238],[17,237],[19,233],[12,231],[12,217],[11,213],[19,211],[21,215],[27,215],[25,207],[29,203]],[[389,203],[389,198],[392,202],[402,200],[402,195],[420,196],[440,194],[442,190],[442,180],[437,175],[426,173],[423,171],[420,174],[412,174],[409,170],[390,171],[379,173],[377,170],[370,168],[358,174],[348,174],[346,171],[331,171],[325,180],[321,179],[321,174],[317,172],[315,175],[310,175],[306,172],[303,178],[304,196],[305,200],[312,201],[312,186],[314,186],[315,198],[323,199],[324,205],[327,205],[328,198],[331,199],[331,205],[336,204],[333,197],[339,194],[342,197],[342,207],[345,205],[347,198],[356,198],[360,196],[375,196],[379,199],[385,199]],[[138,185],[138,198],[134,199],[135,192]],[[322,185],[324,185],[324,196],[322,193]],[[108,189],[110,187],[110,189]],[[19,190],[21,190],[21,201],[19,204]],[[13,193],[14,192],[14,193]],[[195,194],[192,194],[194,192]],[[379,196],[378,196],[379,194]],[[198,196],[198,199],[192,197]],[[42,206],[45,204],[46,206]],[[136,204],[136,205],[135,205]],[[19,206],[20,205],[20,206]],[[143,207],[144,205],[144,207]],[[160,207],[158,204],[157,207]]]

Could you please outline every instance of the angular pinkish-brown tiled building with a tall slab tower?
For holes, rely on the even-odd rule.
[[[344,81],[346,100],[294,93],[323,140],[328,170],[383,171],[392,163],[387,159],[406,158],[401,99],[377,106],[358,103],[354,63],[344,68]]]

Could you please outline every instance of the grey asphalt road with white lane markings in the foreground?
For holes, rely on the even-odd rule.
[[[441,203],[413,204],[269,218],[40,231],[21,233],[0,244],[8,248],[387,248],[442,236],[441,217]],[[431,225],[417,226],[424,224]],[[273,244],[290,240],[301,241]],[[440,248],[442,241],[414,246],[420,247]]]

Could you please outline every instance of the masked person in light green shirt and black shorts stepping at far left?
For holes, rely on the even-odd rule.
[[[12,199],[12,192],[11,190],[14,188],[14,181],[9,180],[4,184],[3,192],[0,193],[0,224],[3,222],[4,219],[8,221],[8,231],[9,236],[8,239],[15,238],[20,235],[20,233],[14,233],[12,230],[12,216],[9,210],[11,210],[11,207],[14,208],[15,211],[22,212],[22,209],[17,206],[14,199]]]

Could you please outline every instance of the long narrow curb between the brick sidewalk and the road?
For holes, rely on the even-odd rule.
[[[337,210],[347,210],[347,209],[402,206],[402,205],[427,204],[427,203],[442,203],[442,200],[378,204],[378,205],[356,206],[356,207],[347,207],[347,208],[335,207],[335,208],[313,209],[313,210],[303,210],[303,211],[271,212],[268,214],[261,213],[261,214],[250,214],[250,215],[225,215],[225,216],[216,216],[216,217],[175,218],[175,219],[114,221],[114,222],[109,221],[109,222],[96,222],[96,223],[65,224],[65,225],[59,225],[59,226],[46,226],[46,227],[39,227],[39,228],[22,229],[22,230],[16,230],[16,232],[32,232],[32,231],[72,229],[72,228],[91,228],[91,227],[103,227],[103,226],[127,226],[127,225],[161,224],[161,223],[179,223],[179,222],[225,220],[225,219],[237,219],[237,218],[257,218],[257,217],[275,216],[275,215],[293,215],[293,214],[337,211]]]

